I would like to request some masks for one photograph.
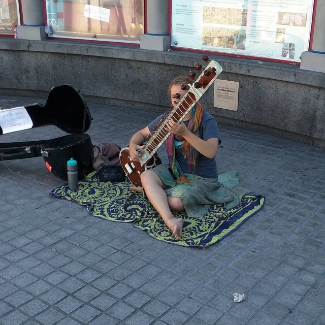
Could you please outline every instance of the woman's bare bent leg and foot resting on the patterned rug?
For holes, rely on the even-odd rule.
[[[141,182],[146,195],[153,207],[165,221],[168,228],[172,231],[176,239],[182,236],[183,219],[176,219],[169,207],[168,197],[164,189],[167,187],[158,175],[153,171],[145,171],[141,174]]]

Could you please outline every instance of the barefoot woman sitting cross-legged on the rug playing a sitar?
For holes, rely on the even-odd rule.
[[[186,93],[181,85],[192,83],[193,78],[189,76],[177,77],[171,82],[169,93],[173,107]],[[144,148],[141,144],[150,139],[164,115],[166,117],[166,114],[158,116],[132,137],[129,144],[132,160],[139,161],[138,151]],[[167,128],[171,132],[165,142],[170,164],[144,171],[141,183],[151,204],[175,238],[180,239],[183,220],[175,218],[172,211],[185,210],[189,217],[202,217],[209,204],[219,203],[216,192],[223,185],[218,183],[215,156],[221,141],[215,118],[199,104],[194,105],[181,123],[171,119]],[[135,186],[131,190],[140,191]]]

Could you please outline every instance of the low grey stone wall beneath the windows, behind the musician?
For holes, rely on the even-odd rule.
[[[201,99],[218,121],[325,147],[325,74],[288,64],[210,58],[223,68],[220,79],[240,86],[237,112],[213,107],[213,87]],[[87,100],[163,111],[170,105],[169,82],[200,60],[199,53],[181,51],[0,39],[0,92],[46,96],[53,85],[69,83]]]

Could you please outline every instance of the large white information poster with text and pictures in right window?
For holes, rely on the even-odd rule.
[[[313,0],[173,0],[172,46],[300,62]]]

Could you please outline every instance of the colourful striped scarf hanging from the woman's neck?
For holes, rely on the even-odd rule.
[[[196,104],[192,109],[191,117],[187,124],[187,129],[199,137],[200,134],[200,124],[202,120],[203,109],[200,104]],[[176,138],[178,141],[183,141],[182,155],[187,158],[188,171],[192,174],[195,173],[198,161],[198,151],[192,147],[187,140],[183,137]],[[172,133],[166,140],[166,150],[168,155],[168,160],[171,165],[173,174],[176,177],[176,182],[189,182],[189,180],[184,176],[178,161],[175,159],[175,145],[174,145],[175,135]]]

